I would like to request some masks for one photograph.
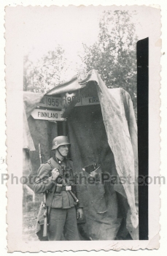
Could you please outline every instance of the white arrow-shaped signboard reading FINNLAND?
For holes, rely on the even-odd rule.
[[[62,118],[62,115],[63,115],[63,111],[42,110],[42,109],[34,109],[33,112],[31,113],[31,116],[34,119],[66,121],[66,118]]]

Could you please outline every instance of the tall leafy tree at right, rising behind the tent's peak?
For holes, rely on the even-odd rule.
[[[128,11],[104,12],[99,22],[98,41],[83,44],[82,61],[97,69],[108,88],[122,87],[131,95],[136,112],[136,41],[135,25]]]

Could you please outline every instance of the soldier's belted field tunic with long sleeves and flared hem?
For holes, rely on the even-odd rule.
[[[63,159],[63,161],[57,159],[50,158],[45,164],[41,165],[39,168],[39,174],[36,178],[36,183],[34,184],[34,192],[35,193],[47,193],[47,202],[46,205],[51,208],[71,208],[74,204],[73,197],[69,194],[68,191],[61,191],[61,193],[54,192],[56,182],[52,180],[51,171],[53,168],[57,168],[61,171],[62,166],[64,168],[68,168],[68,178],[66,179],[66,185],[70,185],[74,182],[74,175],[73,175],[73,164],[70,159]],[[74,189],[76,192],[76,196],[79,200],[77,204],[78,208],[82,208],[82,199],[80,196],[80,187],[79,185],[75,184]]]

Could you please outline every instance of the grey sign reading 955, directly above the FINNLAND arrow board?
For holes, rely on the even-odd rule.
[[[52,96],[44,96],[38,104],[39,107],[47,107],[47,108],[62,108],[61,98],[60,97],[52,97]]]

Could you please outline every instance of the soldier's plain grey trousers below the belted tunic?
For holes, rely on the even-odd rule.
[[[78,241],[76,208],[51,208],[49,220],[49,241]]]

